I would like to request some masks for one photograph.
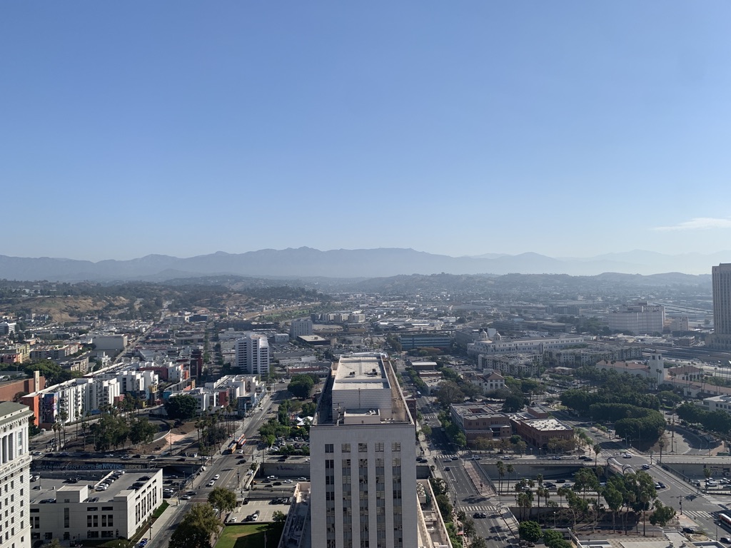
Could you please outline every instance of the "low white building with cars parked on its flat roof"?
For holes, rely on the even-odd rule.
[[[28,518],[34,542],[129,539],[147,525],[163,501],[162,468],[145,473],[110,471],[91,487],[88,481],[66,484],[58,476],[35,481],[39,489],[32,491]],[[102,484],[108,487],[94,489]]]

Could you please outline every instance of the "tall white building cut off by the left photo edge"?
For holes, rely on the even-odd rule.
[[[28,424],[33,413],[21,403],[0,403],[0,546],[31,547],[28,514],[31,455]]]

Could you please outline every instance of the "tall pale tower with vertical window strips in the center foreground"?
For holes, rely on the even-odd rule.
[[[310,430],[312,546],[418,546],[415,433],[388,357],[341,357]]]

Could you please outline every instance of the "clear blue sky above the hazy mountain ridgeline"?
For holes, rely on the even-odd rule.
[[[0,254],[731,249],[725,1],[5,2]]]

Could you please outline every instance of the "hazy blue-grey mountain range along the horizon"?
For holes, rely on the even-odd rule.
[[[148,255],[125,261],[99,262],[24,258],[0,255],[0,278],[47,281],[166,281],[201,275],[267,277],[375,278],[408,274],[569,274],[626,273],[651,275],[710,274],[711,266],[731,260],[730,251],[715,254],[664,255],[629,251],[590,258],[553,258],[536,253],[483,254],[453,257],[408,248],[318,249],[301,247],[262,249],[242,254],[218,251],[178,258]]]

